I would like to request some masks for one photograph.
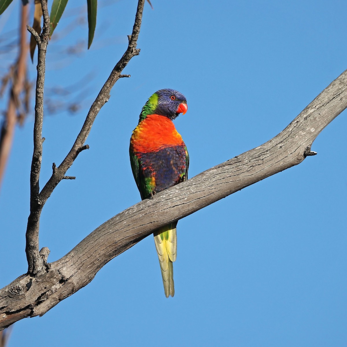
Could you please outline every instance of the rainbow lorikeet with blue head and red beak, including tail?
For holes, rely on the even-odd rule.
[[[145,103],[130,138],[130,163],[142,200],[188,178],[189,155],[172,120],[187,112],[183,94],[172,89],[155,92]],[[172,262],[177,255],[177,222],[154,231],[165,295],[174,296]]]

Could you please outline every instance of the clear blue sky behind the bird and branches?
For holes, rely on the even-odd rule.
[[[87,139],[90,149],[67,173],[76,180],[62,181],[44,206],[40,246],[50,248],[49,261],[140,200],[129,138],[156,90],[187,98],[188,112],[175,124],[193,177],[277,135],[347,68],[344,1],[152,4],[144,10],[141,53],[124,70],[131,77],[116,83]],[[41,186],[126,49],[136,11],[136,1],[100,3],[91,49],[68,55],[66,47],[87,45],[86,24],[69,32],[76,6],[69,1],[54,32],[65,36],[48,46],[46,87],[74,85],[56,99],[83,102],[74,115],[45,114]],[[15,28],[15,1],[8,11]],[[16,323],[9,346],[36,332],[51,347],[346,346],[346,126],[345,111],[313,143],[318,155],[179,221],[174,298],[164,296],[150,236],[42,318]],[[33,115],[16,129],[2,183],[1,287],[27,269],[32,128]]]

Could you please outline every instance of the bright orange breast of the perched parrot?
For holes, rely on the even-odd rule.
[[[183,140],[169,118],[149,115],[133,131],[130,144],[135,152],[148,153],[167,146],[179,146]]]

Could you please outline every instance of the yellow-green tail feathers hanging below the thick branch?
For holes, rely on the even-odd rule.
[[[177,256],[176,225],[177,222],[170,223],[153,233],[155,248],[159,257],[165,296],[167,298],[170,295],[175,295],[174,267],[172,266],[172,262],[176,260]]]

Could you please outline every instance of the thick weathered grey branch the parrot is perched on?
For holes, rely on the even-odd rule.
[[[347,70],[282,132],[248,152],[117,214],[35,278],[25,274],[0,290],[0,330],[43,315],[155,229],[257,181],[301,163],[322,129],[347,108]]]

